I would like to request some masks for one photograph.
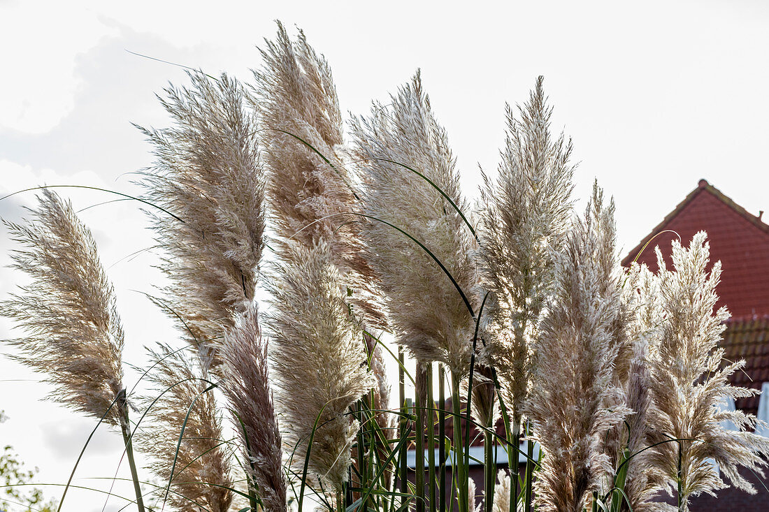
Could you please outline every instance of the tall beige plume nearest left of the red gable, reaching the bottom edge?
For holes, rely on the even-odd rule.
[[[555,300],[535,347],[538,385],[524,409],[544,456],[534,485],[539,510],[580,512],[606,470],[602,437],[628,414],[608,409],[619,394],[614,329],[621,310],[614,204],[594,186],[586,218],[575,221],[555,258]]]

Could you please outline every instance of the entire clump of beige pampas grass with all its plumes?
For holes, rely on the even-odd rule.
[[[248,88],[191,73],[161,99],[171,127],[144,130],[156,161],[142,201],[170,214],[153,218],[169,281],[153,300],[194,347],[160,344],[140,378],[151,395],[135,431],[164,480],[160,508],[225,512],[247,498],[240,510],[302,512],[309,490],[331,512],[480,512],[463,416],[483,438],[484,512],[664,510],[654,500],[666,488],[683,512],[727,482],[754,491],[738,470],[761,474],[769,441],[749,432],[754,417],[717,407],[752,393],[729,384],[742,363],[724,364],[717,347],[720,265],[708,271],[698,234],[688,249],[674,243],[672,269],[660,260],[657,275],[622,270],[614,204],[597,185],[584,218],[571,219],[571,142],[551,135],[542,78],[518,112],[508,107],[476,232],[419,74],[353,118],[348,145],[328,63],[305,35],[291,39],[278,23],[262,57]],[[114,291],[70,204],[44,191],[32,213],[8,224],[22,244],[15,268],[32,278],[0,306],[25,330],[10,344],[55,385],[52,399],[121,427],[143,512]],[[267,232],[272,300],[259,318]],[[375,329],[391,330],[399,364],[404,349],[417,363],[411,409],[400,383],[398,429]],[[509,474],[495,463],[500,415]],[[447,452],[455,495],[445,492]]]

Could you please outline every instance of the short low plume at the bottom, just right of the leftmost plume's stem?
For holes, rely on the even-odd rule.
[[[213,389],[208,389],[212,382],[184,351],[161,344],[149,355],[152,366],[145,379],[154,394],[145,398],[147,425],[137,442],[148,455],[148,468],[164,486],[173,470],[168,504],[174,510],[226,512],[232,501],[231,491],[225,488],[232,487],[231,454],[222,439]]]

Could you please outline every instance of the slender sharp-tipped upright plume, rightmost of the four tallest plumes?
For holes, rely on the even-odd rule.
[[[571,140],[550,132],[552,108],[539,77],[529,100],[507,107],[508,132],[495,181],[484,175],[479,235],[482,276],[491,291],[488,356],[513,427],[531,381],[532,347],[551,294],[553,258],[571,213]]]

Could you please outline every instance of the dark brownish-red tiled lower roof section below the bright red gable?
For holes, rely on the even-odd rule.
[[[745,367],[731,376],[735,386],[761,390],[761,383],[769,381],[769,315],[754,319],[730,319],[724,331],[724,358],[727,361],[745,360]],[[741,398],[735,406],[756,414],[759,397]]]

